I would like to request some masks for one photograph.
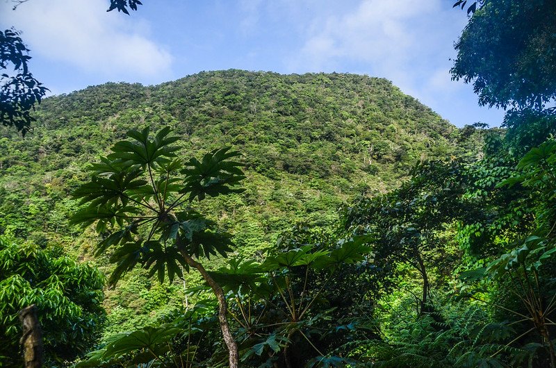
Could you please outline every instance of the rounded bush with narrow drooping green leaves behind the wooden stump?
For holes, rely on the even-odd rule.
[[[35,304],[49,367],[91,349],[100,336],[104,277],[57,249],[0,237],[0,362],[22,364],[17,312]]]

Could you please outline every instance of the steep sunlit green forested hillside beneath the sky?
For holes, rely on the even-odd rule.
[[[229,70],[150,87],[107,83],[46,99],[36,116],[24,139],[0,128],[0,234],[88,259],[97,238],[67,225],[76,210],[70,193],[83,167],[131,128],[170,126],[185,158],[224,146],[243,153],[247,190],[203,206],[246,254],[273,246],[297,222],[333,224],[341,203],[397,186],[420,159],[475,147],[473,135],[389,81],[353,74]],[[131,274],[108,292],[111,322],[121,325],[114,329],[171,310],[179,290]]]

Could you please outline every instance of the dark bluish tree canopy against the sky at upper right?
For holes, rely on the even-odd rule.
[[[480,105],[543,108],[556,97],[556,3],[485,1],[455,44],[452,78]]]

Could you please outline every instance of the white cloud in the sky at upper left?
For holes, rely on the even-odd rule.
[[[172,56],[149,39],[148,25],[106,7],[106,1],[33,0],[12,11],[3,1],[0,22],[23,31],[32,56],[118,80],[170,74]]]

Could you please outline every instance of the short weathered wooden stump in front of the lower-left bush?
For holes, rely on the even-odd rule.
[[[37,306],[33,304],[19,311],[19,321],[22,323],[23,359],[25,368],[42,367],[42,332],[37,317]]]

